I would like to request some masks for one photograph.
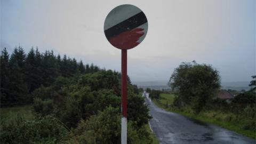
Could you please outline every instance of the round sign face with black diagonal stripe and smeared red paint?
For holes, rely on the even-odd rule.
[[[136,6],[119,5],[111,10],[104,23],[108,41],[118,49],[132,49],[140,44],[148,31],[146,15]]]

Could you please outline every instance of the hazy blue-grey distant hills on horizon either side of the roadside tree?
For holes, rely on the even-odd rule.
[[[138,87],[141,87],[143,89],[146,89],[147,87],[150,89],[155,90],[162,90],[162,89],[170,89],[170,87],[167,85],[168,81],[146,81],[146,82],[133,82],[133,84],[136,84]],[[222,89],[230,89],[230,90],[249,90],[250,82],[242,81],[242,82],[222,82],[221,86]]]

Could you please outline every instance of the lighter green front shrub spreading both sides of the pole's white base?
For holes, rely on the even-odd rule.
[[[107,107],[86,121],[81,120],[76,129],[69,133],[64,143],[121,143],[121,116],[118,108]],[[133,129],[132,121],[127,125],[127,143],[151,143],[145,127]]]

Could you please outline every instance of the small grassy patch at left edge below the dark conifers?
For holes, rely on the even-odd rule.
[[[33,119],[33,107],[31,105],[1,108],[0,123],[14,123],[21,119]]]

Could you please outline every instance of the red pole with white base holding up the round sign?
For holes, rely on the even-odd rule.
[[[127,50],[122,50],[122,119],[121,143],[127,143]]]

